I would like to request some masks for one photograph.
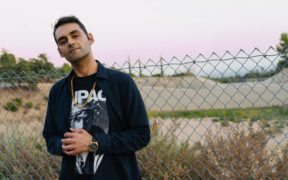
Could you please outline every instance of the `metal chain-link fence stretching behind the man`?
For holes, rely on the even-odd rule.
[[[137,152],[143,178],[287,178],[288,69],[279,61],[270,47],[114,64],[134,78],[148,111],[153,136]],[[57,177],[60,158],[48,155],[41,132],[60,77],[1,74],[1,179]]]

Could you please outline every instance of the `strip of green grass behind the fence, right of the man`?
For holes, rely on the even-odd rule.
[[[238,109],[213,109],[196,111],[150,111],[150,118],[162,119],[202,119],[212,118],[213,122],[219,122],[227,127],[230,123],[247,121],[250,124],[260,122],[260,125],[269,134],[281,133],[288,126],[288,107],[272,106],[258,108]]]

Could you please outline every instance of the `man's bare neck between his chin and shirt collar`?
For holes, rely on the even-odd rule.
[[[72,67],[78,77],[84,77],[96,73],[98,63],[94,60],[94,58],[89,58],[72,64]]]

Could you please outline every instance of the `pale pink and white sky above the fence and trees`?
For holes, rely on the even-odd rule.
[[[262,51],[288,32],[287,0],[0,0],[0,49],[20,58],[61,58],[53,25],[75,15],[94,36],[94,57],[105,64],[160,57]]]

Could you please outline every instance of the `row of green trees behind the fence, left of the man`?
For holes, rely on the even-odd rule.
[[[37,58],[17,59],[14,54],[2,50],[0,56],[0,83],[7,86],[28,86],[36,88],[39,82],[49,82],[70,72],[71,66],[64,64],[60,68],[48,61],[46,54]],[[1,85],[1,84],[0,84]]]

